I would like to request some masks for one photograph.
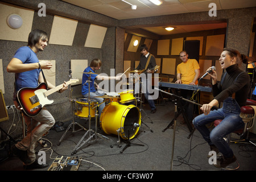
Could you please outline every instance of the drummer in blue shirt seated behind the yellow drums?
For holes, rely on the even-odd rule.
[[[94,80],[97,78],[97,80],[120,80],[121,76],[102,76],[102,75],[97,75],[95,74],[94,71],[98,70],[101,68],[101,60],[100,59],[93,59],[92,62],[90,63],[90,66],[85,68],[84,74],[82,74],[82,95],[85,98],[89,97],[89,82],[90,82],[90,98],[93,100],[96,100],[98,104],[98,114],[99,114],[99,119],[101,116],[101,112],[105,107],[104,103],[104,98],[100,98],[97,96],[103,96],[103,92],[98,92],[98,90],[95,89],[94,85],[98,88],[98,85]],[[92,72],[94,74],[89,74],[89,72]],[[90,77],[90,81],[89,80]],[[102,103],[103,102],[103,103]],[[102,104],[101,104],[102,103]],[[98,121],[99,121],[98,119]]]

